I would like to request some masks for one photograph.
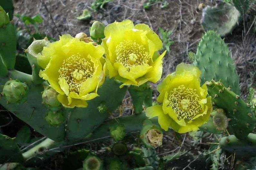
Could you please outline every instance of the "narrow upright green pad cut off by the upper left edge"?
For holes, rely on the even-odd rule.
[[[0,8],[0,62],[7,69],[14,69],[16,58],[16,32],[3,8]],[[1,61],[2,60],[2,61]],[[0,64],[1,66],[2,64]],[[2,67],[2,66],[1,66]]]

